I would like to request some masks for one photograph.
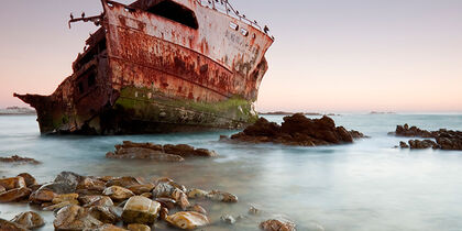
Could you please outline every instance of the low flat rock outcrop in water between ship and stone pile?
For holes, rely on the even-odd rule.
[[[183,162],[189,157],[217,157],[215,151],[195,148],[187,144],[154,144],[154,143],[133,143],[124,141],[123,144],[116,145],[116,152],[106,154],[108,158],[129,158],[129,160],[155,160],[160,162]]]

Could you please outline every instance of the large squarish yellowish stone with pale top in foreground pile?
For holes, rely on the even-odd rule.
[[[123,207],[122,220],[127,223],[152,224],[158,217],[161,204],[134,196]]]

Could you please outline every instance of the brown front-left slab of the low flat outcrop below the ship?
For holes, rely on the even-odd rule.
[[[129,160],[153,160],[158,162],[183,162],[179,155],[165,154],[161,151],[154,151],[143,147],[120,148],[117,153],[106,154],[107,158],[129,158]]]

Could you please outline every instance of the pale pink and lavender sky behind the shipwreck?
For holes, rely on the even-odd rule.
[[[462,112],[461,0],[229,0],[276,41],[258,111]],[[120,0],[130,3],[128,0]],[[0,108],[72,75],[99,0],[9,0],[0,8]]]

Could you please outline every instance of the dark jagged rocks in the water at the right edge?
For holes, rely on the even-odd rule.
[[[457,150],[462,151],[462,132],[440,129],[438,131],[421,130],[408,124],[397,125],[392,134],[404,138],[428,138],[433,140],[410,140],[408,143],[400,142],[399,147],[411,150]]]

